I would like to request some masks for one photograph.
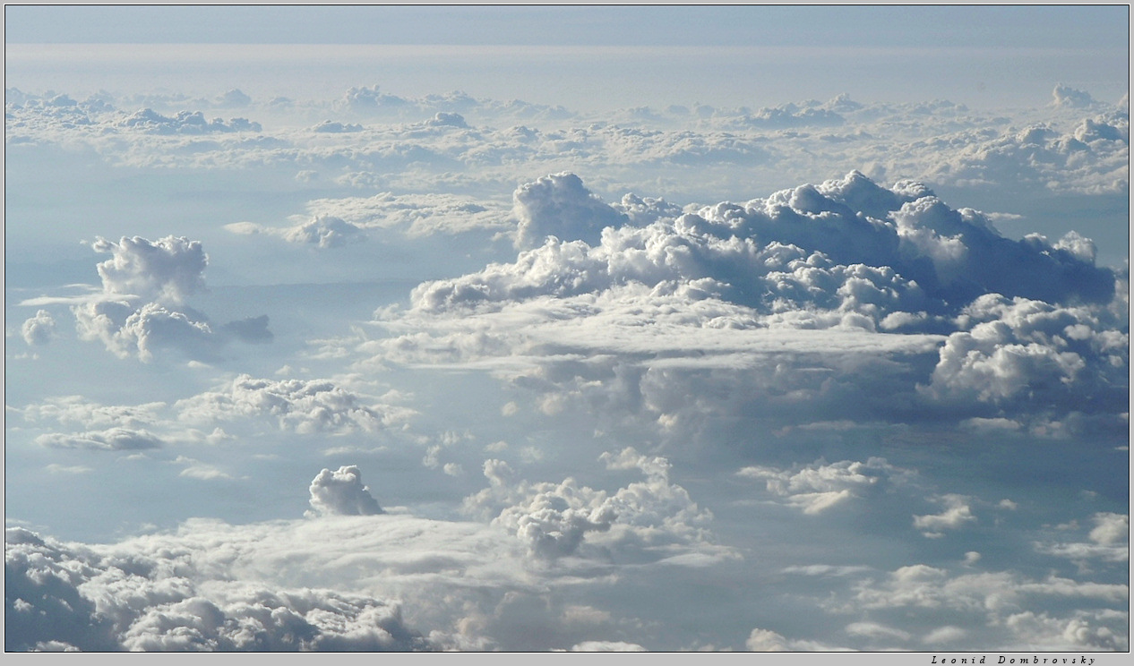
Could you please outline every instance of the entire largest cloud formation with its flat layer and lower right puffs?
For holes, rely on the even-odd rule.
[[[1077,233],[1014,240],[922,183],[858,172],[677,216],[628,197],[587,217],[601,204],[576,186],[568,215],[564,182],[517,200],[566,238],[422,283],[409,308],[378,314],[393,334],[359,350],[494,367],[545,409],[577,399],[661,425],[820,409],[1125,430],[1127,278]],[[592,244],[565,215],[607,225]]]

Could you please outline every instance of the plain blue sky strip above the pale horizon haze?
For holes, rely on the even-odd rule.
[[[9,43],[1125,49],[1127,6],[6,7]]]

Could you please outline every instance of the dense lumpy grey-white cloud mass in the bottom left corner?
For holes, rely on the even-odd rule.
[[[5,541],[5,649],[422,650],[399,607],[328,589],[210,579],[186,554],[93,549],[16,528]]]

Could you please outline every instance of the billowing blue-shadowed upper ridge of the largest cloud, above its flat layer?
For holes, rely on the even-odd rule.
[[[559,190],[570,194],[550,194]],[[915,305],[936,311],[959,309],[990,291],[1051,301],[1099,302],[1114,294],[1114,274],[1081,258],[1081,242],[1069,239],[1056,247],[1040,237],[1013,241],[999,236],[980,213],[954,211],[920,183],[886,189],[857,172],[743,206],[703,207],[646,228],[620,225],[625,220],[570,174],[541,179],[517,190],[516,197],[522,230],[524,220],[555,224],[566,215],[598,225],[590,233],[592,240],[567,242],[570,234],[557,237],[559,241],[521,253],[516,264],[422,285],[415,304],[434,309],[442,304],[543,293],[573,296],[631,281],[654,287],[670,280],[702,281],[730,300],[768,309],[776,307],[777,298],[807,305],[843,289],[844,300],[852,297],[866,306],[858,309],[883,314]],[[539,204],[522,203],[528,199]],[[611,212],[600,213],[599,206]],[[586,213],[567,215],[560,212],[564,207]],[[526,223],[532,224],[540,222]],[[609,230],[599,238],[602,227]],[[522,237],[528,238],[523,231]],[[832,268],[838,271],[833,284],[814,282],[821,276],[814,270]],[[860,283],[871,290],[869,296],[856,293]],[[772,294],[767,294],[769,290]],[[793,291],[802,293],[794,297]],[[895,302],[875,302],[888,293]]]

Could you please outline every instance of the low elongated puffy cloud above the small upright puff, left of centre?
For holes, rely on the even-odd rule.
[[[179,400],[175,408],[189,421],[264,418],[274,420],[280,429],[298,433],[373,433],[413,413],[372,403],[330,379],[262,379],[251,375],[239,375],[218,391]]]

